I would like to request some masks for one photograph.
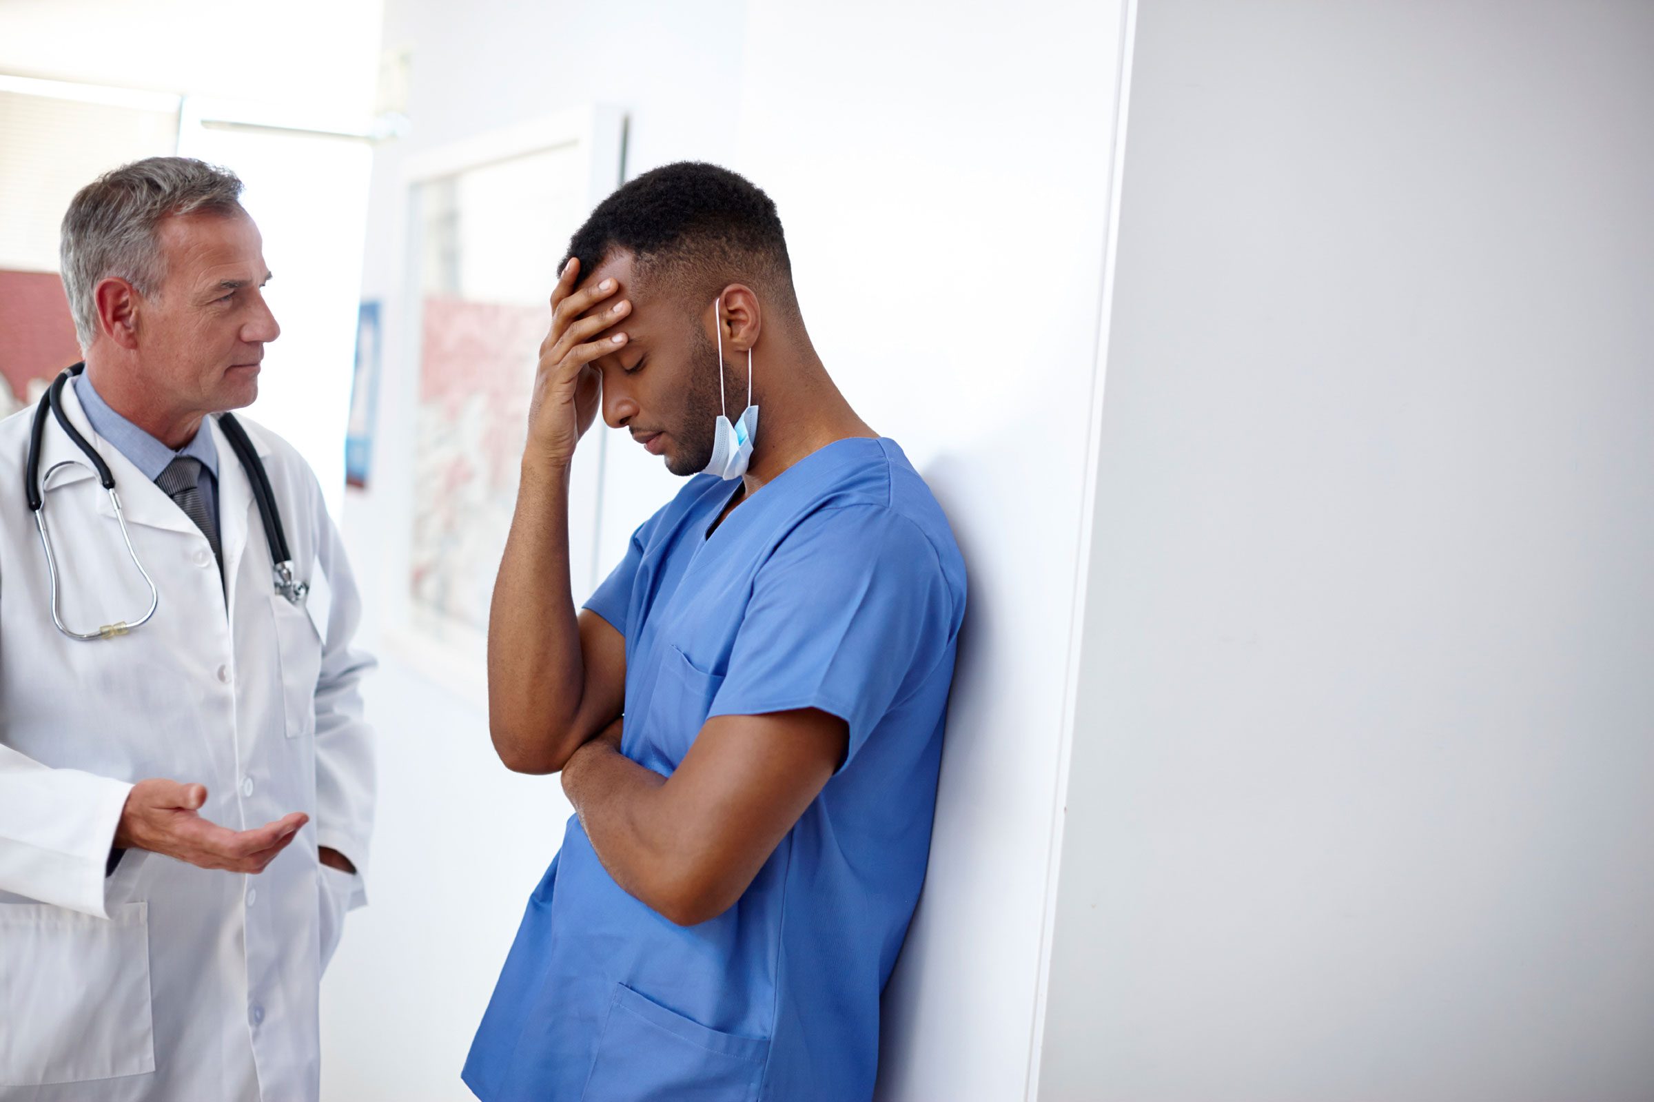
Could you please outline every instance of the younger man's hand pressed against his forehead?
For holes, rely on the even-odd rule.
[[[574,458],[574,445],[597,417],[602,381],[592,361],[620,351],[627,343],[625,333],[594,338],[632,313],[632,303],[619,299],[582,318],[594,303],[620,288],[614,280],[604,280],[576,291],[579,271],[581,261],[571,258],[551,291],[551,333],[539,346],[534,397],[528,409],[529,455],[554,467],[566,467]]]

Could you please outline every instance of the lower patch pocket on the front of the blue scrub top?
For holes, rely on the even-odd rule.
[[[708,1029],[615,985],[582,1102],[751,1102],[769,1041]]]

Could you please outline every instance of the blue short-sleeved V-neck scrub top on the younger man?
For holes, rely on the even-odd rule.
[[[678,927],[571,817],[465,1082],[504,1102],[868,1099],[930,854],[964,563],[893,440],[837,440],[706,534],[693,478],[587,602],[625,635],[622,751],[670,774],[715,715],[820,708],[850,745],[734,907]]]

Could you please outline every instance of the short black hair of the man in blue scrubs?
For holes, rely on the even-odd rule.
[[[617,250],[635,256],[643,280],[660,280],[685,298],[749,283],[797,311],[776,204],[729,169],[680,161],[624,184],[569,238],[581,280]]]

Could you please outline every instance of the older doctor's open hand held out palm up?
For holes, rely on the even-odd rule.
[[[162,778],[139,781],[121,809],[114,844],[165,854],[202,869],[263,872],[309,822],[309,816],[294,811],[251,831],[232,831],[197,814],[205,803],[203,784]]]

